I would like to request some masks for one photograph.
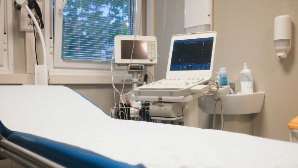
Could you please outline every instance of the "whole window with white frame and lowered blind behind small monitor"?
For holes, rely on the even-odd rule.
[[[141,23],[142,0],[67,0],[61,12],[63,2],[53,5],[50,74],[110,75],[114,36],[142,33],[142,24],[135,24]],[[125,67],[117,69],[125,75]]]

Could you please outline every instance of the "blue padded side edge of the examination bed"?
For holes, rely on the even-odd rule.
[[[9,142],[66,168],[145,168],[142,164],[129,165],[72,145],[11,131],[1,121],[0,134]]]

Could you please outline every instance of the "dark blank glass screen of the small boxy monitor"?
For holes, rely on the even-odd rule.
[[[132,56],[134,40],[121,40],[121,59],[130,60],[147,60],[148,47],[147,41],[135,40],[134,51]]]

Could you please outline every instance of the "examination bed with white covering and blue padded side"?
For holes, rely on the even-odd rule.
[[[298,168],[297,144],[117,120],[64,86],[0,86],[0,121],[0,154],[24,165]]]

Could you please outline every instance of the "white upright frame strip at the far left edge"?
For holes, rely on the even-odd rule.
[[[13,37],[11,6],[11,0],[2,0],[0,3],[0,74],[13,74]],[[4,35],[4,33],[6,33],[6,35]],[[6,44],[4,44],[4,39],[6,41]]]

